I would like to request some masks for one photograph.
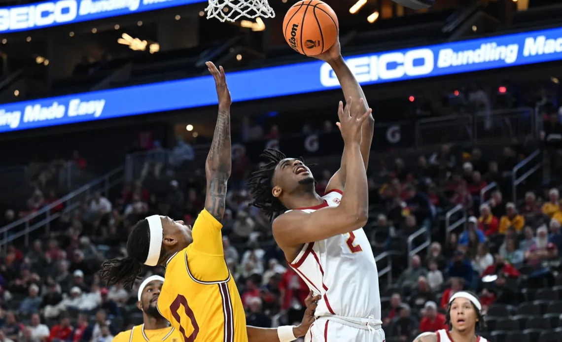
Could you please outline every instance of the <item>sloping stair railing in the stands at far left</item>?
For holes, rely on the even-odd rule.
[[[100,191],[101,193],[107,195],[111,188],[123,183],[123,180],[124,168],[121,166],[90,182],[89,184],[81,186],[79,189],[72,191],[70,194],[58,199],[56,202],[53,202],[48,206],[39,209],[37,212],[31,213],[26,217],[20,218],[20,220],[1,227],[0,236],[2,236],[2,240],[0,240],[0,249],[6,253],[6,248],[4,247],[22,236],[24,236],[25,239],[25,246],[28,246],[30,232],[33,232],[41,227],[45,227],[46,233],[48,234],[51,229],[51,222],[64,213],[71,212],[72,210],[78,208],[82,199],[88,199],[95,191]],[[64,209],[62,209],[61,212],[53,212],[53,209],[61,204],[64,205]],[[35,221],[36,219],[39,221]]]

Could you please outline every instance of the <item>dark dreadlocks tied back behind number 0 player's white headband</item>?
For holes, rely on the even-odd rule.
[[[127,257],[110,259],[102,263],[99,276],[107,285],[123,284],[125,289],[131,289],[133,283],[142,272],[142,265],[148,257],[150,245],[150,227],[146,219],[134,225],[127,239]],[[164,248],[160,251],[162,258]]]

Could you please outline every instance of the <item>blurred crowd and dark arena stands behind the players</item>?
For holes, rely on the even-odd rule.
[[[562,12],[560,4],[541,1],[460,1],[454,8],[437,1],[428,11],[410,11],[381,0],[367,5],[378,6],[381,15],[365,26],[352,22],[353,13],[348,17],[353,1],[327,2],[338,16],[342,13],[342,37],[373,36],[365,36],[371,40],[364,43],[342,39],[344,53],[376,51],[390,43],[411,47],[419,44],[408,38],[414,33],[424,42],[443,42],[556,27],[556,13]],[[289,5],[275,4],[279,13]],[[200,19],[198,7],[189,11]],[[142,24],[132,17],[131,30],[149,26],[147,19]],[[446,31],[451,18],[457,26]],[[230,45],[207,47],[203,37],[212,37],[210,24],[197,22],[197,56],[219,60],[227,74],[298,58],[283,42],[276,50],[273,38],[264,46],[268,31],[236,27],[233,35],[239,37],[230,42],[235,52],[253,57],[256,49],[267,52],[262,59],[238,60],[238,53],[224,48]],[[396,42],[379,34],[396,34]],[[60,70],[44,62],[41,69],[34,61],[25,65],[24,57],[14,62],[14,56],[27,52],[6,47],[15,50],[3,60],[0,102],[78,91],[98,84],[99,72],[115,76],[119,72],[110,66],[130,67],[127,63],[153,68],[152,78],[142,80],[133,72],[126,80],[110,76],[112,82],[201,74],[194,60],[174,70],[177,52],[162,52],[160,59],[140,51],[117,54],[105,38],[88,37],[85,47],[97,46],[103,53],[77,61],[66,78],[53,76]],[[285,60],[275,60],[275,51],[287,53]],[[17,99],[10,78],[15,71],[8,65],[25,70],[27,91]],[[448,299],[462,289],[478,293],[486,313],[481,334],[491,342],[562,341],[560,70],[552,63],[509,70],[364,86],[377,122],[364,229],[377,259],[388,342],[409,342],[420,332],[442,329]],[[232,108],[233,170],[223,246],[248,325],[271,327],[302,318],[309,290],[275,245],[268,218],[248,206],[252,197],[245,180],[259,165],[262,149],[280,148],[318,165],[312,171],[323,194],[342,148],[334,125],[341,90],[325,93]],[[139,219],[158,213],[193,224],[205,199],[203,167],[215,111],[0,134],[10,145],[0,151],[0,342],[110,342],[142,323],[136,306],[139,282],[131,291],[107,287],[97,275],[99,265],[126,255],[127,236]],[[163,272],[146,268],[143,276]]]

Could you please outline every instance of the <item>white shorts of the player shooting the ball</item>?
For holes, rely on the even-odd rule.
[[[319,317],[306,333],[305,342],[384,342],[384,330],[361,329]]]

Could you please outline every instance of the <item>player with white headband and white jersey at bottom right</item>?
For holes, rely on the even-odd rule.
[[[476,335],[484,323],[482,304],[474,294],[457,292],[449,299],[446,322],[450,330],[424,332],[414,342],[488,342]]]

